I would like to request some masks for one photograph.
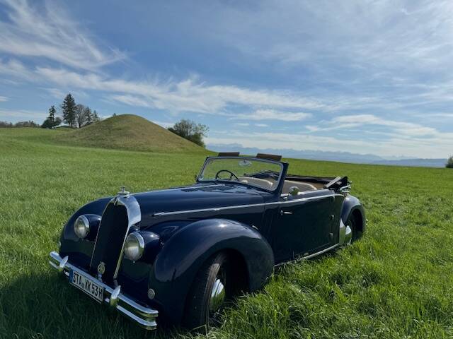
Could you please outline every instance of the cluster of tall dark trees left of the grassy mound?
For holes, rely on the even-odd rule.
[[[81,128],[93,122],[99,121],[98,113],[95,110],[91,110],[90,107],[76,104],[76,100],[69,93],[60,105],[62,109],[62,117],[57,117],[57,109],[55,105],[52,105],[49,109],[49,116],[42,123],[41,127],[43,129],[53,129],[56,126],[62,124],[62,122],[68,124],[71,128]]]

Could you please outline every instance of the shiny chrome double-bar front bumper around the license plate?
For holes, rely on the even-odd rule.
[[[135,321],[139,326],[142,328],[146,328],[147,330],[154,330],[157,327],[156,324],[156,316],[158,315],[158,311],[155,309],[151,309],[149,307],[144,307],[141,304],[137,304],[134,300],[126,297],[121,293],[121,287],[118,286],[115,289],[112,287],[105,285],[96,278],[93,278],[88,273],[76,268],[75,266],[68,263],[68,257],[65,256],[62,258],[59,254],[55,251],[50,252],[50,265],[69,278],[69,270],[75,270],[77,273],[81,275],[85,275],[87,278],[91,280],[96,280],[96,283],[102,285],[104,287],[104,301],[105,304],[108,304],[113,309],[116,309],[123,315],[127,316],[128,318]]]

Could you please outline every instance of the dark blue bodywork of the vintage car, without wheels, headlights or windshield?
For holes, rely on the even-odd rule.
[[[282,177],[275,191],[234,181],[197,181],[88,203],[64,226],[59,252],[51,254],[52,266],[62,272],[79,270],[102,281],[106,289],[111,287],[105,302],[113,306],[117,305],[111,302],[113,290],[120,286],[117,291],[124,300],[144,307],[146,316],[141,319],[148,316],[154,321],[159,312],[159,319],[180,323],[195,275],[219,251],[231,254],[236,275],[246,282],[244,290],[253,291],[265,285],[275,265],[347,244],[348,220],[357,234],[365,231],[365,210],[348,194],[347,177],[289,175],[288,164],[280,163]],[[285,180],[319,188],[292,196],[282,192]],[[86,239],[74,234],[72,225],[80,215],[93,225]],[[127,227],[117,226],[122,222]],[[122,258],[121,246],[130,232],[140,232],[145,242],[138,261]],[[103,275],[96,271],[101,262]],[[155,310],[153,316],[147,310]],[[152,323],[140,324],[155,328]]]

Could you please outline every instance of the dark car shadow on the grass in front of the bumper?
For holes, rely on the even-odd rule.
[[[0,338],[174,338],[168,325],[146,331],[55,273],[23,275],[0,290]]]

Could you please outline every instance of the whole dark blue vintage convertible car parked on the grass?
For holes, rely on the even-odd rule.
[[[287,174],[279,156],[207,157],[196,183],[88,203],[69,218],[50,264],[69,283],[147,329],[215,323],[274,266],[358,239],[365,210],[347,177]]]

